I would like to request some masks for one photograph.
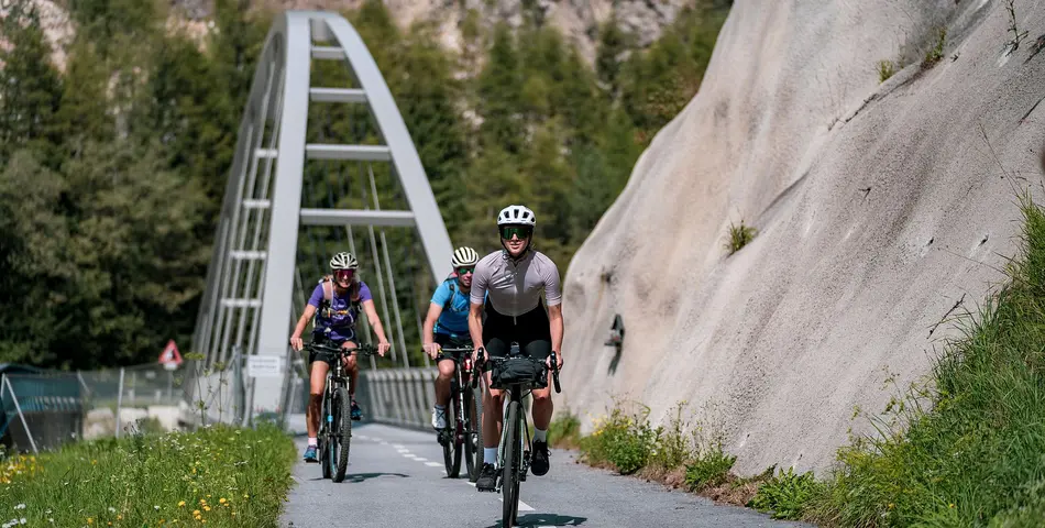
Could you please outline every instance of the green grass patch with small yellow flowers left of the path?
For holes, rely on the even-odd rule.
[[[133,435],[14,455],[0,461],[0,524],[277,526],[295,458],[292,439],[270,426]]]

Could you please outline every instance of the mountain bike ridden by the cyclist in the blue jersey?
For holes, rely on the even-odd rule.
[[[483,397],[482,389],[472,384],[481,374],[472,369],[472,346],[442,348],[453,354],[454,375],[450,380],[450,405],[447,406],[447,427],[439,431],[439,444],[447,464],[447,476],[457,479],[461,473],[461,454],[469,481],[479,480],[483,468]]]

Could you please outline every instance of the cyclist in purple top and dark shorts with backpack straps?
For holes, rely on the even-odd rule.
[[[366,320],[371,322],[371,327],[377,336],[377,353],[384,356],[385,352],[392,348],[385,338],[385,330],[377,317],[377,309],[374,308],[374,298],[371,296],[370,288],[355,274],[359,267],[359,262],[351,253],[341,252],[333,255],[333,258],[330,260],[333,276],[323,277],[316,285],[308,304],[305,305],[305,311],[294,328],[294,334],[290,336],[290,346],[294,350],[300,351],[305,348],[301,333],[305,331],[308,321],[312,320],[314,317],[314,341],[330,341],[343,349],[358,348],[360,339],[355,332],[355,323],[359,320],[361,308],[362,311],[366,312]],[[345,359],[344,367],[352,380],[349,387],[349,395],[352,398],[352,419],[359,420],[363,417],[363,410],[355,403],[355,384],[360,374],[355,355],[353,352],[352,355]],[[323,389],[327,384],[327,372],[333,361],[334,358],[324,353],[314,351],[308,354],[310,389],[308,407],[305,409],[308,427],[308,447],[305,450],[306,462],[319,462],[316,454],[319,415],[321,413]]]

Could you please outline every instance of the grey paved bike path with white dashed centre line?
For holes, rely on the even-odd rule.
[[[319,464],[295,465],[280,526],[501,527],[501,494],[448,479],[435,432],[375,424],[353,432],[344,482],[323,480]],[[302,452],[305,438],[296,443]],[[809,526],[576,464],[573,453],[558,450],[547,475],[528,475],[520,498],[518,526],[526,527]]]

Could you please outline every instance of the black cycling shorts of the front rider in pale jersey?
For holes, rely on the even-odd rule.
[[[520,355],[537,360],[551,355],[551,329],[543,301],[518,317],[498,314],[493,304],[486,302],[486,322],[483,323],[486,354],[505,358],[512,350],[513,341],[519,343]]]

